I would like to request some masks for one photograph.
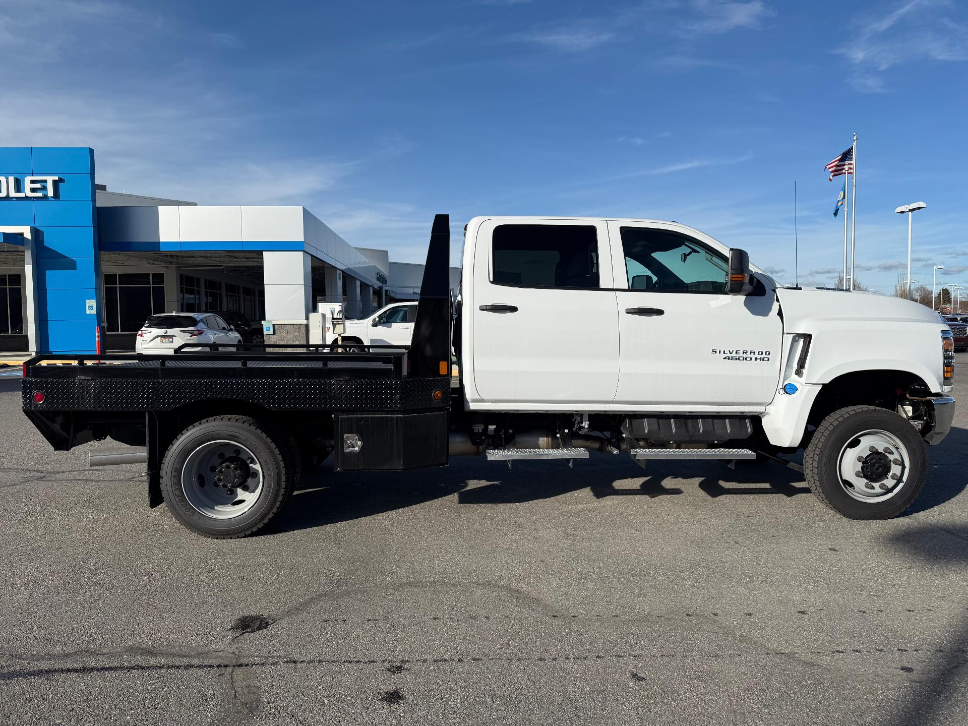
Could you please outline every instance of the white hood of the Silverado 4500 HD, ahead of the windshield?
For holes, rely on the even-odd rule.
[[[848,292],[838,289],[777,287],[776,297],[783,311],[788,333],[812,332],[815,322],[836,320],[870,323],[930,322],[941,328],[938,316],[921,303],[875,292]]]

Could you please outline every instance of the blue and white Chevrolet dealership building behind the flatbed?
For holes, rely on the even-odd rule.
[[[320,304],[363,318],[417,297],[423,272],[301,206],[108,190],[89,148],[0,148],[0,232],[0,351],[95,352],[99,334],[130,350],[146,318],[172,311],[238,311],[272,321],[267,343],[307,343]]]

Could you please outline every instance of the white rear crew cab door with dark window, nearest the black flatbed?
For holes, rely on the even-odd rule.
[[[602,410],[611,403],[619,323],[605,223],[485,220],[473,259],[472,289],[463,296],[479,405]]]

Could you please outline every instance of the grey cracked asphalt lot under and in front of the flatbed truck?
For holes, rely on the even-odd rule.
[[[968,354],[955,395],[968,402]],[[968,723],[968,411],[921,499],[774,464],[323,470],[199,537],[0,377],[0,722]]]

